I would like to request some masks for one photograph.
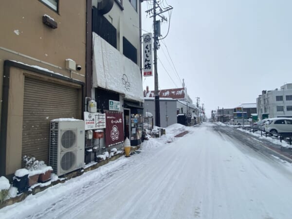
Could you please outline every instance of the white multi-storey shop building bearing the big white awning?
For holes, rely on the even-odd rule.
[[[131,146],[139,145],[144,102],[141,1],[92,0],[92,6],[91,98],[98,111],[123,115],[124,130],[119,133],[130,139]],[[118,107],[112,109],[109,103]],[[105,132],[109,136],[111,130]]]

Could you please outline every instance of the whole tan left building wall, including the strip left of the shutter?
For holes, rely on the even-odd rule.
[[[52,29],[42,22],[48,15],[57,22]],[[3,0],[0,3],[0,98],[2,103],[3,63],[15,60],[45,71],[85,82],[86,1],[59,0],[59,10],[47,7],[39,0]],[[81,71],[65,69],[65,59],[73,59]],[[43,80],[52,80],[40,75]],[[47,77],[47,78],[46,78]],[[60,79],[58,84],[69,84]],[[21,167],[24,71],[10,69],[6,141],[6,174]],[[80,85],[76,85],[80,87]],[[79,98],[81,100],[81,89]],[[2,104],[0,105],[1,113]],[[81,101],[80,106],[81,114]],[[1,120],[0,120],[1,122]]]

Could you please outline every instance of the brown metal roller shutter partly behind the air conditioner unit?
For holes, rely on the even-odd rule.
[[[56,118],[78,118],[78,90],[25,77],[22,156],[48,164],[50,121]]]

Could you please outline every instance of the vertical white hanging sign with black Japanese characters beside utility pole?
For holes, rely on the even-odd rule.
[[[153,58],[152,58],[152,34],[143,35],[143,66],[144,76],[153,75]]]

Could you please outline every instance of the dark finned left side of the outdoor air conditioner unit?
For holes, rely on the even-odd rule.
[[[50,127],[50,166],[53,167],[54,173],[57,172],[58,164],[58,126],[56,122],[51,122]]]

